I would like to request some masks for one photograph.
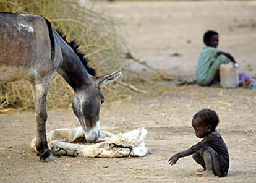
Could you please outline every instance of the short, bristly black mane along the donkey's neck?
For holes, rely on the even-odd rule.
[[[77,54],[77,56],[79,57],[80,61],[83,64],[83,66],[87,70],[87,72],[90,75],[96,76],[96,70],[88,65],[88,62],[90,62],[90,60],[85,56],[84,53],[79,51],[79,46],[80,45],[77,43],[77,40],[72,40],[72,41],[69,42],[69,41],[67,41],[67,36],[64,35],[62,30],[58,29],[56,31],[59,33],[59,35],[62,37],[62,39],[64,41],[66,41],[66,43],[74,50],[75,54]]]

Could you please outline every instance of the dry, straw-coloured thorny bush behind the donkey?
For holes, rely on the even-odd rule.
[[[132,80],[142,80],[143,77],[129,70],[127,59],[153,70],[160,79],[171,80],[129,53],[122,36],[121,21],[114,20],[102,12],[93,11],[92,4],[82,5],[80,2],[79,0],[1,0],[0,11],[43,15],[54,28],[62,30],[68,41],[77,40],[80,51],[86,53],[90,59],[90,66],[97,70],[98,75],[122,70],[121,80],[102,88],[105,95],[108,95],[108,100],[116,100],[134,91],[145,93],[130,84]],[[72,95],[72,88],[59,74],[56,74],[51,80],[48,92],[48,108],[70,107]],[[11,108],[34,108],[32,90],[28,81],[0,84],[0,110],[5,112]]]

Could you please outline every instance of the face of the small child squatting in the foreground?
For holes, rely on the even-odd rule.
[[[211,126],[205,124],[200,117],[197,117],[192,120],[192,126],[195,129],[195,135],[198,138],[203,138],[211,131]]]

